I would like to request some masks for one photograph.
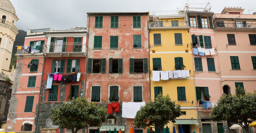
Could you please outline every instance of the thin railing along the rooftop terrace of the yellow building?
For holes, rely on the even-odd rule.
[[[188,22],[149,22],[149,27],[187,27]]]

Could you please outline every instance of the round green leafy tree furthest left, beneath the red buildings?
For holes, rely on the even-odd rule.
[[[72,130],[72,133],[89,126],[100,126],[106,121],[107,114],[104,107],[88,102],[85,98],[63,102],[60,108],[52,107],[51,111],[51,120],[61,129]]]

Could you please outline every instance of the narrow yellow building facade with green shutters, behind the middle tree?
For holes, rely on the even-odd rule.
[[[176,118],[175,123],[168,124],[170,131],[173,131],[173,126],[179,131],[181,125],[183,130],[198,132],[190,27],[184,17],[183,14],[151,16],[149,25],[151,100],[160,93],[169,94],[171,100],[181,105],[182,114]],[[153,71],[174,72],[175,70],[190,70],[190,73],[186,78],[169,77],[168,80],[160,78],[159,81],[155,81],[152,74]]]

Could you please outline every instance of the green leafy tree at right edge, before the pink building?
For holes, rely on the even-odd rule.
[[[238,86],[235,95],[220,98],[217,106],[211,111],[213,121],[227,120],[238,124],[249,133],[249,124],[256,120],[256,93],[245,93]]]

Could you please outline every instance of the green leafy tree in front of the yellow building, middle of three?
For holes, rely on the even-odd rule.
[[[144,129],[154,126],[162,132],[164,125],[174,122],[174,119],[180,115],[180,105],[171,101],[169,95],[163,96],[160,94],[155,98],[155,101],[149,101],[137,111],[134,125]]]

